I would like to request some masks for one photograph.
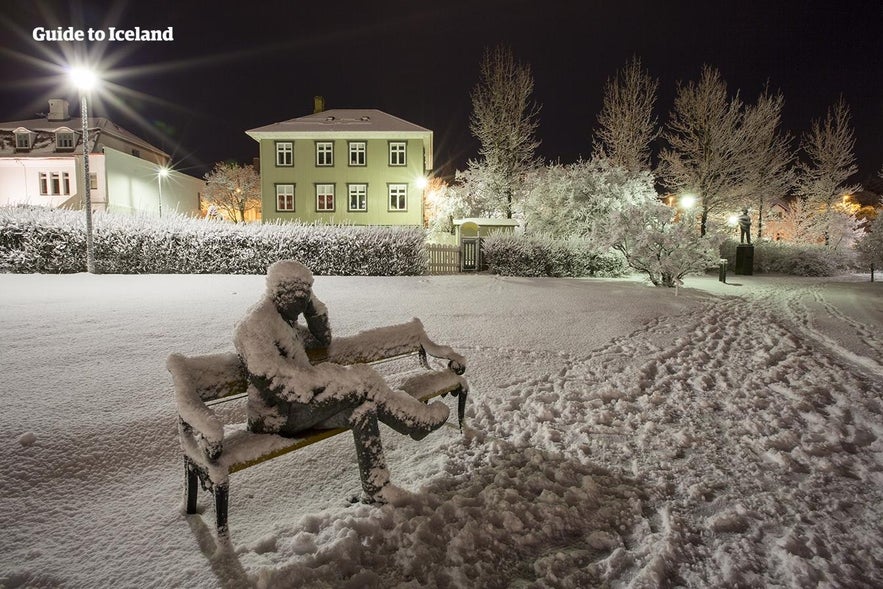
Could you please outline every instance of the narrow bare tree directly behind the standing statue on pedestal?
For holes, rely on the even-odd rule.
[[[794,185],[793,139],[780,131],[784,104],[781,93],[773,95],[764,90],[757,103],[746,108],[742,123],[743,136],[754,142],[746,170],[746,202],[757,213],[758,241],[763,237],[770,202],[786,196]]]

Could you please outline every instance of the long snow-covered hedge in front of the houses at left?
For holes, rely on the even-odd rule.
[[[0,271],[83,272],[82,211],[0,208]],[[420,228],[231,224],[184,216],[93,217],[96,269],[107,274],[262,274],[295,259],[319,275],[424,274]]]

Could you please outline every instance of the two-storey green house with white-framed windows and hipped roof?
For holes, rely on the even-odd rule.
[[[264,220],[423,225],[432,131],[376,109],[336,109],[246,133],[260,144]]]

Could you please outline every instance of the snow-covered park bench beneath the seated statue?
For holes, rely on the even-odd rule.
[[[336,362],[379,367],[404,361],[416,370],[400,371],[392,378],[391,386],[405,390],[424,402],[451,393],[458,398],[457,417],[462,428],[468,393],[466,380],[461,376],[465,371],[465,361],[447,346],[431,342],[425,334],[412,345],[398,345],[369,353],[335,349],[332,343],[330,348],[308,349],[307,355],[312,364]],[[447,366],[431,366],[428,356],[447,360]],[[437,361],[434,363],[438,364]],[[225,424],[216,411],[219,409],[217,406],[247,399],[248,396],[248,375],[238,355],[232,352],[190,357],[172,354],[166,366],[174,383],[178,433],[184,453],[186,513],[196,513],[197,485],[201,484],[203,489],[214,495],[219,536],[227,534],[229,475],[349,429],[311,429],[296,437],[283,437],[250,432],[245,422]]]

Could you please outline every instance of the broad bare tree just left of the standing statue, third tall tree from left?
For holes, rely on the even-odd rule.
[[[720,73],[709,66],[702,68],[698,83],[678,86],[659,171],[671,190],[697,197],[700,235],[707,231],[709,214],[734,210],[744,197],[751,142],[742,127],[742,108],[738,93],[728,97]]]

